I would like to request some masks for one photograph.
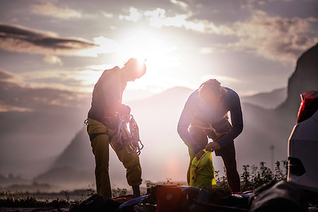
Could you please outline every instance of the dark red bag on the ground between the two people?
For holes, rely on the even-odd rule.
[[[158,187],[155,192],[157,209],[155,212],[177,212],[181,200],[181,188],[177,186]]]

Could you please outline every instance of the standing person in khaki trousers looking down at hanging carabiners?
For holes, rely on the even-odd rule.
[[[128,153],[119,148],[115,134],[119,127],[119,118],[125,122],[130,119],[130,107],[122,104],[122,94],[129,81],[134,81],[146,73],[144,62],[131,58],[119,69],[105,70],[94,86],[93,98],[88,112],[87,131],[95,156],[95,179],[97,193],[104,199],[112,197],[109,176],[109,143],[119,160],[126,168],[126,179],[133,189],[134,196],[140,196],[141,165],[136,152]]]

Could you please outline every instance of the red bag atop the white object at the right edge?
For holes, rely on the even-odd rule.
[[[318,109],[318,91],[310,90],[300,95],[302,102],[298,111],[297,123],[303,122],[312,117]]]

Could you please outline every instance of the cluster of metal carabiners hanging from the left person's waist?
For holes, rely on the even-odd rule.
[[[136,152],[137,155],[140,155],[143,143],[139,137],[139,127],[132,115],[129,121],[129,130],[124,117],[119,117],[118,131],[114,138],[117,148],[122,149],[125,146],[127,153]]]

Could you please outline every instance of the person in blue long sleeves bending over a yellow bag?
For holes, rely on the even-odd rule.
[[[228,112],[232,124],[228,122]],[[215,151],[221,156],[228,187],[240,192],[240,175],[237,172],[234,139],[242,132],[243,119],[240,98],[234,90],[220,86],[210,79],[195,90],[184,105],[177,131],[188,146],[190,163],[187,182],[190,182],[190,167],[194,157],[201,158],[206,151]],[[213,141],[208,143],[208,138]]]

